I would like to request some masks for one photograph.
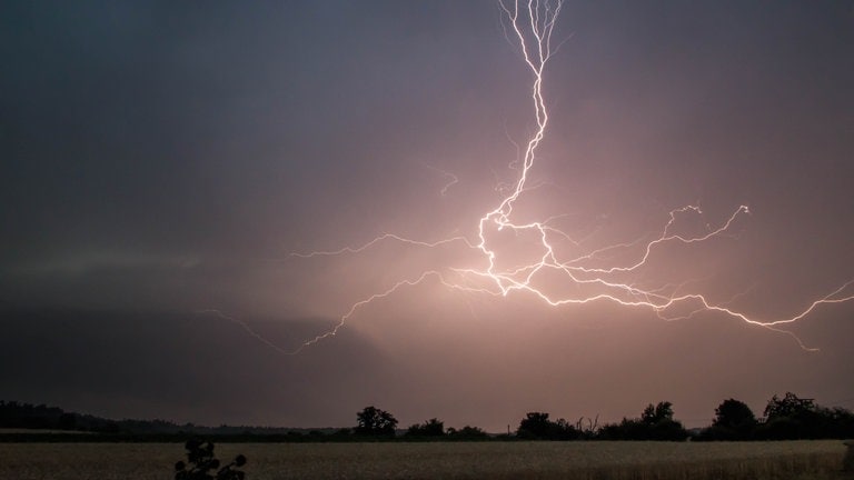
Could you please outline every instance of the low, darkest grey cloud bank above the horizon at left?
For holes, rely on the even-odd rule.
[[[336,388],[354,390],[345,399],[350,409],[371,401],[358,391],[356,373],[389,378],[387,360],[350,333],[335,356],[282,362],[239,326],[199,314],[42,309],[4,318],[0,359],[17,366],[0,372],[4,392],[117,418],[137,411],[195,422],[305,424],[321,420],[299,412],[327,403]],[[316,321],[252,326],[290,348],[318,331]],[[337,421],[349,420],[346,413]]]

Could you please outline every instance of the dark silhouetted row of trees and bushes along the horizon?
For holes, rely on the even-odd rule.
[[[762,417],[735,399],[715,409],[709,427],[688,431],[674,419],[673,404],[648,404],[637,418],[599,424],[598,419],[553,420],[547,412],[528,412],[514,433],[488,434],[478,427],[446,428],[436,418],[398,429],[397,419],[374,406],[356,414],[356,427],[341,429],[289,429],[269,427],[200,427],[165,420],[108,420],[66,412],[57,407],[0,401],[0,428],[29,429],[28,433],[0,433],[0,441],[183,441],[193,436],[216,436],[219,441],[387,441],[387,440],[796,440],[854,438],[854,413],[843,408],[825,408],[812,399],[787,392],[768,400]],[[93,436],[92,433],[98,433]]]

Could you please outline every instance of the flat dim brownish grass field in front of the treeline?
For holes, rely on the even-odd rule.
[[[841,441],[217,444],[247,480],[844,479]],[[0,443],[0,479],[172,478],[178,443]]]

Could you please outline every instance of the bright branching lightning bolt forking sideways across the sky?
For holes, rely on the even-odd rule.
[[[805,346],[795,333],[785,330],[785,327],[804,319],[821,306],[854,300],[854,292],[851,291],[854,280],[814,300],[804,310],[790,318],[759,320],[732,309],[724,303],[715,303],[702,293],[682,293],[685,284],[666,284],[648,288],[626,282],[624,279],[624,277],[637,272],[647,266],[652,261],[654,251],[667,244],[681,243],[687,246],[729,234],[733,223],[739,217],[751,213],[746,206],[739,206],[724,222],[716,227],[706,223],[706,231],[694,236],[676,233],[674,230],[679,218],[688,216],[699,217],[703,214],[703,211],[698,206],[681,207],[669,211],[668,220],[652,239],[648,237],[646,239],[640,238],[569,256],[568,258],[559,253],[556,240],[568,240],[574,248],[579,248],[582,241],[573,240],[569,234],[554,227],[553,222],[556,218],[543,221],[519,221],[514,218],[514,206],[517,200],[526,191],[537,187],[537,184],[532,186],[529,183],[529,173],[535,167],[537,149],[545,138],[549,121],[547,104],[543,94],[544,71],[555,53],[552,36],[562,6],[563,2],[560,0],[555,2],[549,2],[548,0],[516,0],[513,3],[499,2],[504,18],[506,18],[508,23],[508,27],[505,26],[505,36],[512,42],[515,39],[515,42],[519,46],[524,62],[533,74],[530,100],[534,106],[536,130],[524,146],[524,152],[523,148],[520,148],[522,146],[513,142],[517,147],[518,158],[510,167],[518,172],[518,178],[515,184],[505,184],[497,189],[503,197],[495,208],[488,210],[477,220],[477,232],[474,240],[469,240],[466,237],[453,237],[427,242],[394,233],[384,233],[359,247],[291,253],[292,258],[310,259],[314,257],[358,254],[368,249],[378,248],[380,243],[386,241],[426,249],[460,243],[477,258],[475,263],[480,263],[479,268],[449,268],[445,273],[438,270],[429,270],[410,279],[400,280],[386,290],[352,303],[349,310],[339,318],[331,329],[302,342],[295,350],[281,349],[261,338],[245,322],[218,311],[216,313],[224,319],[240,324],[249,334],[258,338],[269,347],[284,353],[296,354],[307,347],[337,334],[347,321],[367,304],[386,299],[401,289],[413,288],[428,279],[435,279],[449,289],[478,294],[507,297],[514,293],[526,293],[552,307],[608,301],[628,308],[646,308],[655,312],[659,318],[668,321],[692,318],[702,312],[713,312],[739,320],[746,324],[791,336],[804,350],[817,350]],[[447,172],[440,172],[450,176]],[[445,186],[443,194],[447,191],[447,188],[456,183],[456,177],[453,177],[453,182]],[[536,252],[534,254],[535,260],[528,262],[516,260],[514,262],[513,259],[508,259],[508,257],[513,256],[505,254],[505,251],[500,248],[500,239],[506,238],[508,234],[516,239],[528,239],[526,251]],[[625,252],[630,253],[633,251],[637,252],[628,261],[624,260],[623,263],[608,264],[608,256],[619,253],[625,258]],[[560,276],[570,286],[576,287],[569,289],[574,294],[556,296],[537,287],[537,280],[540,280],[545,274]],[[454,281],[448,280],[451,276],[455,279]],[[679,308],[687,308],[689,311],[688,313],[677,314],[676,312],[679,311]]]

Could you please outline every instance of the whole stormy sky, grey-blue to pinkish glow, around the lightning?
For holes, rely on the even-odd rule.
[[[745,3],[567,1],[515,213],[553,218],[580,254],[648,241],[686,204],[703,216],[678,218],[685,234],[747,206],[623,280],[773,321],[854,279],[854,3]],[[706,424],[726,398],[761,413],[788,390],[853,408],[854,302],[791,326],[806,352],[719,313],[428,278],[298,356],[267,343],[292,350],[426,270],[484,268],[459,242],[290,253],[475,240],[536,129],[506,28],[493,1],[1,7],[0,396],[294,427],[376,404],[491,431],[659,400]]]

